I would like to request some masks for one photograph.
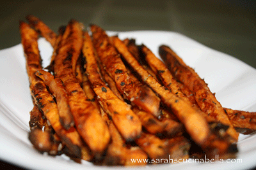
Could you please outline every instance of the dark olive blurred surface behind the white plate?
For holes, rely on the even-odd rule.
[[[0,50],[20,43],[19,21],[31,14],[55,32],[71,18],[107,31],[175,31],[256,68],[254,0],[2,0],[0,13]]]

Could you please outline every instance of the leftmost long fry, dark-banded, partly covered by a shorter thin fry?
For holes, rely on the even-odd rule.
[[[60,124],[58,117],[58,109],[56,103],[52,99],[51,94],[46,89],[46,86],[36,78],[35,72],[37,69],[42,69],[40,53],[38,50],[37,34],[25,22],[20,22],[20,35],[24,54],[26,56],[26,67],[29,76],[31,96],[38,105],[38,108],[44,113],[45,117],[51,123],[52,128],[60,136],[61,140],[67,145],[74,157],[81,157],[81,139],[75,129],[66,131]]]

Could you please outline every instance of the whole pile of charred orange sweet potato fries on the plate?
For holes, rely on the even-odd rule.
[[[223,108],[207,83],[173,50],[158,59],[135,39],[70,20],[53,32],[39,18],[20,22],[33,110],[29,140],[40,153],[103,166],[131,159],[235,158],[255,113]],[[38,38],[51,43],[43,68]],[[46,71],[47,70],[47,71]]]

